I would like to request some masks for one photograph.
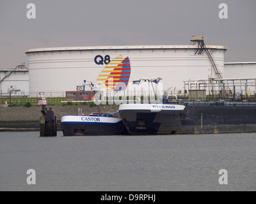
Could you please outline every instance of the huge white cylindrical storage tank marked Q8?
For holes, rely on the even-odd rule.
[[[227,47],[207,48],[223,73]],[[28,49],[25,52],[29,57],[29,96],[35,97],[38,92],[45,92],[45,97],[65,96],[65,91],[75,91],[84,80],[96,81],[109,62],[126,57],[131,64],[129,82],[161,77],[164,90],[173,87],[184,91],[184,80],[216,77],[208,55],[197,51],[198,45]]]

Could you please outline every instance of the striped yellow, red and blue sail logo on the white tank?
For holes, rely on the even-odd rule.
[[[123,59],[119,55],[110,61],[100,72],[97,82],[107,91],[125,90],[131,75],[131,64],[129,57]]]

